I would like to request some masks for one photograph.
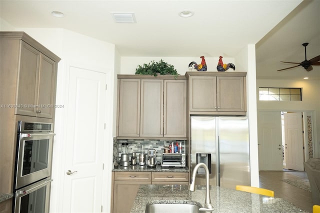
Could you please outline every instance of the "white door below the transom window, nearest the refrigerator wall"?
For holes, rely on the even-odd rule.
[[[280,112],[259,111],[257,121],[259,170],[282,170]]]

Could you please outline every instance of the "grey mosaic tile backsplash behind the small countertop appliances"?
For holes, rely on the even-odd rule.
[[[163,153],[164,146],[169,146],[170,143],[182,144],[182,153],[185,153],[185,140],[147,140],[147,139],[116,139],[113,138],[113,165],[118,162],[121,157],[122,143],[127,142],[127,152],[131,155],[132,152],[136,153],[136,156],[139,153],[147,153],[148,149],[155,149],[156,151],[156,161],[161,160],[161,153]],[[131,156],[129,157],[131,159]]]

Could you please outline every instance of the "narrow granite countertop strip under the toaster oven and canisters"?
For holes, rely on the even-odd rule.
[[[189,172],[187,167],[161,167],[156,165],[155,167],[148,167],[147,165],[129,165],[122,166],[116,165],[112,171],[156,171],[156,172]]]

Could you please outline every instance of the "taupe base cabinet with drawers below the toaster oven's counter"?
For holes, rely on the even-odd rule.
[[[188,184],[188,172],[113,171],[111,212],[130,212],[140,184]]]

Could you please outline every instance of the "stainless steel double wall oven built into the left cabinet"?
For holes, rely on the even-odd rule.
[[[13,212],[48,212],[53,123],[17,122]]]

